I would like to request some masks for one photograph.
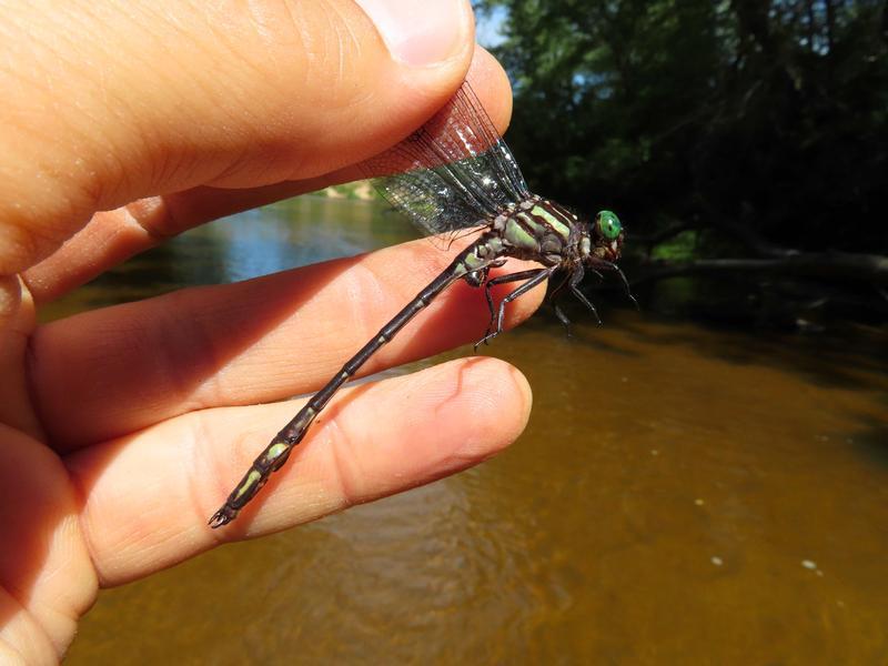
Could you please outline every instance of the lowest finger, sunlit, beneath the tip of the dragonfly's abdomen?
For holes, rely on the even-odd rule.
[[[118,585],[215,545],[313,521],[452,474],[517,437],[531,406],[514,367],[445,363],[343,392],[290,462],[243,509],[206,521],[293,403],[211,410],[71,455],[81,525],[103,585]],[[138,478],[139,483],[133,483]]]

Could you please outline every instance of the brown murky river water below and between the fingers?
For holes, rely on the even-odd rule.
[[[403,231],[360,203],[279,205],[54,314]],[[885,331],[850,344],[575,315],[571,340],[542,314],[490,347],[534,387],[505,454],[103,592],[68,663],[885,663]]]

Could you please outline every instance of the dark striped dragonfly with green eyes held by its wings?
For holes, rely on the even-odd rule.
[[[491,321],[475,350],[502,333],[509,302],[556,273],[565,278],[549,299],[565,326],[569,321],[554,302],[564,289],[597,319],[595,306],[578,287],[586,270],[599,276],[603,271],[615,272],[632,297],[628,282],[616,264],[624,240],[619,218],[603,210],[594,220],[583,220],[565,206],[533,194],[512,151],[468,82],[464,82],[423,127],[394,148],[364,162],[362,170],[371,176],[382,196],[425,234],[454,239],[473,232],[477,238],[346,361],[274,436],[210,518],[213,528],[238,516],[272,473],[283,466],[342,385],[455,282],[463,280],[472,286],[484,287]],[[536,262],[538,268],[491,276],[492,269],[503,266],[513,258]],[[496,307],[491,290],[515,282],[521,284]]]

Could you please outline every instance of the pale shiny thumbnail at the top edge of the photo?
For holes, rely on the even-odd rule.
[[[395,60],[430,65],[455,56],[471,26],[464,0],[355,0]]]

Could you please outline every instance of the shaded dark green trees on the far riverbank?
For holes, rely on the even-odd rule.
[[[810,250],[886,250],[881,3],[476,6],[505,9],[494,51],[515,88],[507,138],[533,189],[613,208],[630,232],[683,220]]]

